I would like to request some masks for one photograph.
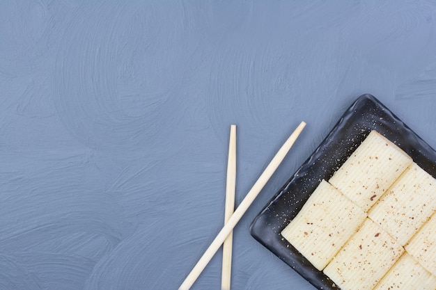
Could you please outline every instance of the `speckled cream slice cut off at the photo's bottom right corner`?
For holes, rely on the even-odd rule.
[[[436,277],[405,252],[374,290],[435,290]]]

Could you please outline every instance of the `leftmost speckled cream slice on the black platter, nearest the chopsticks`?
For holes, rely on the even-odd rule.
[[[281,235],[322,271],[365,218],[364,211],[322,180]]]

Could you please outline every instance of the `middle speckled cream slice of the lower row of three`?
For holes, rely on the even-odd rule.
[[[341,289],[373,289],[403,254],[404,248],[366,218],[324,273]]]

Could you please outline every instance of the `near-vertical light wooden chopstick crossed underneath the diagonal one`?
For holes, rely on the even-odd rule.
[[[236,125],[230,127],[228,142],[227,178],[226,178],[226,209],[224,210],[224,225],[228,222],[235,209],[236,186]],[[223,265],[221,274],[221,290],[230,290],[232,270],[233,231],[228,234],[223,244]]]

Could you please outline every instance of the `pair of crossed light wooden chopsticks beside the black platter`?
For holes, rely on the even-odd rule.
[[[221,287],[228,287],[230,289],[230,275],[231,275],[231,243],[232,236],[231,233],[235,225],[239,222],[245,211],[249,208],[252,202],[256,199],[257,195],[262,191],[263,186],[271,178],[274,171],[279,167],[281,161],[285,158],[286,154],[289,152],[290,147],[293,146],[295,140],[297,140],[299,134],[306,126],[305,122],[301,122],[297,129],[291,134],[286,140],[286,142],[281,146],[277,154],[274,156],[270,164],[263,171],[262,175],[258,178],[254,186],[245,196],[244,200],[240,203],[239,207],[233,212],[234,207],[234,191],[235,191],[235,173],[236,173],[236,127],[231,126],[231,138],[229,142],[229,154],[228,154],[228,166],[227,166],[227,185],[226,185],[226,195],[233,195],[232,198],[226,197],[226,223],[215,239],[210,244],[208,250],[206,250],[203,256],[198,260],[197,264],[194,266],[192,271],[187,275],[185,281],[180,285],[178,290],[188,290],[192,287],[192,284],[197,280],[198,276],[203,272],[204,268],[208,265],[209,261],[215,255],[217,250],[221,247],[224,241],[227,240],[227,245],[224,245],[226,252],[223,252],[223,277],[221,280]],[[233,139],[233,140],[232,140]],[[233,205],[228,206],[227,204],[232,203]],[[230,216],[230,217],[228,217]],[[227,218],[228,217],[228,218]],[[228,238],[229,237],[229,238]],[[230,246],[228,245],[230,244]],[[230,251],[230,254],[228,253]],[[227,256],[227,257],[226,257]],[[225,261],[224,261],[225,260]],[[224,264],[225,263],[225,264]],[[226,288],[222,288],[223,290]]]

